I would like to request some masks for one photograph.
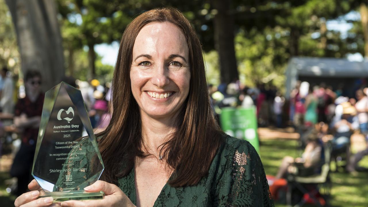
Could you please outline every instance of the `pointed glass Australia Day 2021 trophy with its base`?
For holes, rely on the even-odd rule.
[[[81,91],[64,82],[45,94],[32,176],[54,202],[102,199],[83,189],[104,165]]]

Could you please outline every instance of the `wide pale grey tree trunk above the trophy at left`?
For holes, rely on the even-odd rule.
[[[21,56],[23,74],[38,70],[42,89],[49,90],[65,74],[63,47],[54,0],[6,0]]]

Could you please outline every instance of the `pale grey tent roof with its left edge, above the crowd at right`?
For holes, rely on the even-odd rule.
[[[300,77],[367,78],[368,61],[354,62],[347,59],[293,57],[286,69],[286,97]]]

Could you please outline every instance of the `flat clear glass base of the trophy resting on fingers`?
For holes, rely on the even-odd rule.
[[[45,192],[44,197],[53,197],[54,203],[62,202],[67,200],[95,200],[95,199],[103,199],[105,193],[100,192],[85,192],[84,190],[73,190],[73,191],[64,191],[64,192]]]

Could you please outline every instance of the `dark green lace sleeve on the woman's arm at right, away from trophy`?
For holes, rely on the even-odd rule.
[[[226,153],[227,166],[217,186],[216,206],[273,207],[261,159],[248,141],[238,143],[232,152]]]

